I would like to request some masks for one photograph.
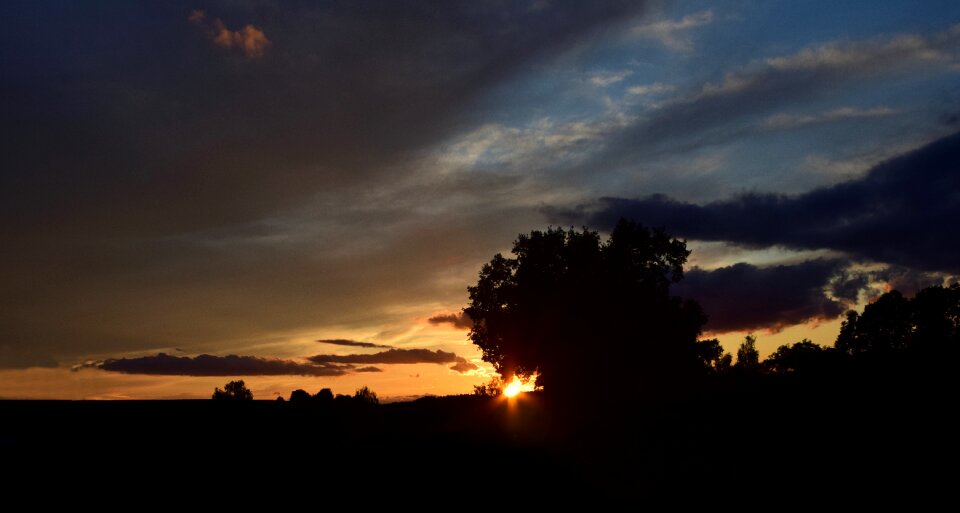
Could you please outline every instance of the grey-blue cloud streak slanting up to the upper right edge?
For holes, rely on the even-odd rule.
[[[838,110],[811,119],[769,115],[840,86],[906,73],[944,73],[944,64],[960,50],[960,30],[929,36],[901,35],[852,42],[832,42],[792,54],[756,60],[703,84],[685,96],[663,103],[607,141],[598,167],[635,165],[652,151],[700,147],[742,137],[758,127],[884,115]],[[763,123],[772,126],[764,126]],[[779,127],[783,128],[783,127]]]

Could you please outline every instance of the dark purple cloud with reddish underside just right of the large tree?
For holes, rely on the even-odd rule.
[[[816,320],[832,320],[844,305],[824,293],[846,262],[808,260],[794,265],[757,267],[739,263],[706,271],[694,268],[673,292],[696,299],[715,333],[778,330]]]

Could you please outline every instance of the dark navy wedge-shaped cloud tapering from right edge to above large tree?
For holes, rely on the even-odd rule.
[[[863,178],[795,196],[750,193],[704,205],[662,195],[603,198],[551,213],[600,227],[628,217],[692,239],[827,248],[923,271],[960,272],[960,133],[883,162]]]

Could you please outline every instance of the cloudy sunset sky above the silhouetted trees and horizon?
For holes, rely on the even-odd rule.
[[[958,86],[952,1],[2,2],[0,398],[468,393],[481,265],[622,216],[830,345],[960,275]]]

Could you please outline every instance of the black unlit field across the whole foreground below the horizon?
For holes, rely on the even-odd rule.
[[[325,407],[6,401],[0,448],[18,478],[134,489],[319,487],[414,502],[509,491],[530,504],[933,500],[957,486],[948,385],[768,376],[634,404],[540,393]]]

